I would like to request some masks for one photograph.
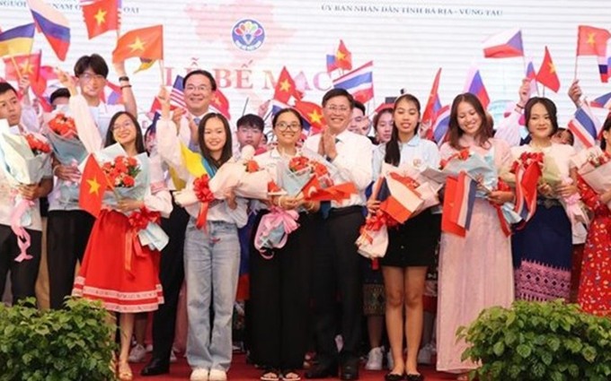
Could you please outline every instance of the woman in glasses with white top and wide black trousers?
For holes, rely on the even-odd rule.
[[[297,146],[302,123],[295,109],[280,110],[272,119],[278,145],[254,158],[278,184],[281,184],[280,171],[290,170],[286,162],[303,154]],[[308,330],[305,327],[308,326],[314,250],[314,217],[311,213],[316,212],[319,206],[319,203],[304,201],[298,195],[275,195],[267,207],[259,211],[254,222],[253,232],[261,229],[261,223],[270,223],[265,220],[272,214],[281,213],[284,218],[297,219],[291,223],[298,224],[296,230],[286,233],[288,238],[283,247],[260,254],[252,242],[252,359],[264,368],[262,381],[300,378],[296,369],[303,367],[307,349]],[[289,213],[293,215],[289,216]]]

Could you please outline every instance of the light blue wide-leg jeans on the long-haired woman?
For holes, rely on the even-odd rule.
[[[231,364],[231,324],[239,267],[235,224],[208,221],[208,231],[204,231],[195,227],[191,217],[184,239],[184,273],[189,316],[187,359],[192,368],[226,371]]]

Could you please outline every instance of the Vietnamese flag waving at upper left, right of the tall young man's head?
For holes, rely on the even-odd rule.
[[[163,25],[129,30],[121,36],[112,51],[112,62],[122,62],[130,57],[164,59]]]

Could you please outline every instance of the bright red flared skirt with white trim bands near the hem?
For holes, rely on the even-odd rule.
[[[106,309],[124,313],[154,311],[164,302],[158,276],[160,253],[148,247],[138,250],[134,245],[137,235],[128,234],[129,229],[124,214],[100,213],[93,224],[73,295],[102,300]]]

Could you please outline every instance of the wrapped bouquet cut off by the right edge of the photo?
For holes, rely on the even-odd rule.
[[[598,147],[576,154],[571,159],[577,173],[598,195],[611,189],[611,155]],[[607,203],[611,209],[611,202]]]

